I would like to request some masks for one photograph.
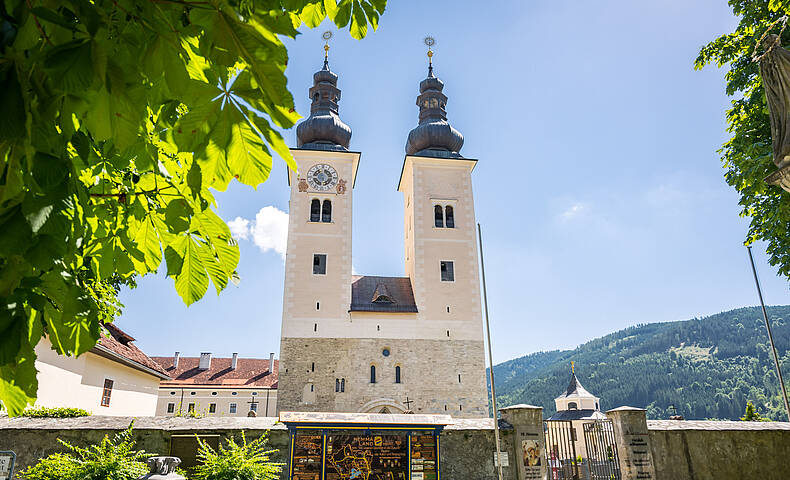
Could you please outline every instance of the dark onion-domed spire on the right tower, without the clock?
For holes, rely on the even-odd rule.
[[[430,53],[429,53],[430,56]],[[420,82],[420,124],[409,132],[406,141],[407,155],[460,157],[464,136],[447,122],[447,96],[442,93],[444,83],[433,76],[433,66],[428,67],[428,78]]]

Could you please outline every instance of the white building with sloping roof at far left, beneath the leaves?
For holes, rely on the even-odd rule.
[[[107,324],[109,336],[79,357],[36,345],[38,398],[35,406],[76,407],[93,415],[153,416],[160,380],[167,373],[132,344],[134,338]]]

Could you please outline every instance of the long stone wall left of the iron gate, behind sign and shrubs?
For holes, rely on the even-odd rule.
[[[279,450],[275,461],[288,461],[288,430],[276,418],[164,418],[83,417],[71,419],[32,419],[0,417],[0,450],[17,454],[17,468],[34,464],[38,459],[64,451],[57,439],[87,446],[96,444],[106,434],[125,429],[134,420],[137,447],[152,454],[170,453],[174,435],[207,434],[225,439],[238,437],[242,430],[248,439],[268,432],[269,445]],[[444,480],[496,480],[494,469],[494,430],[491,419],[457,419],[441,435],[441,478]],[[502,430],[501,444],[507,449],[511,467],[503,469],[505,480],[517,480],[512,430]],[[287,478],[287,467],[281,478]]]

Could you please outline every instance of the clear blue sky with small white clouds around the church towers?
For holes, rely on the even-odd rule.
[[[461,153],[479,159],[473,184],[495,362],[755,304],[742,245],[748,222],[716,153],[727,138],[725,72],[693,70],[699,48],[736,24],[726,2],[483,5],[393,0],[363,41],[331,28],[341,117],[362,152],[355,270],[404,274],[396,187],[430,34],[449,119],[465,136]],[[327,29],[286,42],[303,115]],[[294,130],[285,135],[295,146]],[[287,213],[288,192],[278,159],[257,191],[235,185],[217,196],[223,218],[248,227],[238,287],[219,297],[210,288],[187,308],[172,280],[149,276],[121,295],[118,324],[150,355],[278,352],[286,220],[278,210]],[[790,303],[764,246],[755,253],[766,301]]]

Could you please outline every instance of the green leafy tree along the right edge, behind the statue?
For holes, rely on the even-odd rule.
[[[724,178],[741,196],[741,216],[751,219],[745,243],[766,241],[770,264],[778,267],[780,275],[790,277],[790,193],[764,181],[776,166],[759,64],[752,60],[753,53],[761,51],[757,42],[763,33],[773,22],[790,14],[790,1],[729,0],[729,4],[740,17],[738,27],[703,47],[695,68],[711,63],[729,68],[726,92],[735,98],[727,110],[732,137],[719,150]],[[778,34],[780,25],[770,31]],[[786,29],[782,45],[788,42],[790,30]]]

